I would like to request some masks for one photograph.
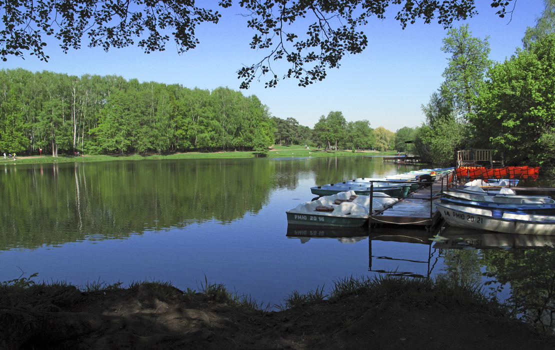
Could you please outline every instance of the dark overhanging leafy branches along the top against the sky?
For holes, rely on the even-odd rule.
[[[490,1],[503,17],[513,0]],[[367,47],[362,28],[373,16],[385,18],[390,6],[402,28],[416,21],[448,28],[453,21],[477,14],[474,0],[220,0],[218,5],[228,8],[234,3],[248,18],[246,26],[255,31],[250,47],[266,52],[259,62],[238,70],[241,88],[261,76],[269,78],[266,87],[287,78],[297,79],[301,86],[324,79],[326,70],[339,67],[346,54]],[[89,47],[109,50],[136,44],[145,53],[165,50],[173,40],[178,53],[183,53],[199,43],[195,37],[199,24],[218,23],[221,14],[209,7],[195,6],[194,0],[0,0],[0,58],[29,52],[48,60],[44,35],[57,38],[64,52],[80,48],[87,37]],[[285,60],[290,68],[274,72],[275,60]]]

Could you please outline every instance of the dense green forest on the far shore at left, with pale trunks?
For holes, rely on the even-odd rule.
[[[167,153],[255,150],[274,142],[256,96],[229,88],[0,70],[0,147],[9,152]]]

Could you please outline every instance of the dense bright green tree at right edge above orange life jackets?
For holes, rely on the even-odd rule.
[[[509,164],[555,165],[555,33],[496,64],[470,119],[482,145]],[[482,131],[482,132],[480,132]]]

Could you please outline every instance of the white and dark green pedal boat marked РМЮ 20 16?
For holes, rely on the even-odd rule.
[[[372,194],[372,212],[384,209],[397,199],[381,192]],[[310,226],[359,227],[368,222],[370,197],[344,191],[304,202],[287,210],[287,224]]]

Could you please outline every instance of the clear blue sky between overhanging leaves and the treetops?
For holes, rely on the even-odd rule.
[[[543,10],[542,0],[515,0],[512,18],[499,18],[488,0],[477,0],[480,14],[463,23],[470,24],[472,35],[489,36],[490,59],[503,62],[517,47],[528,26],[533,26]],[[511,3],[512,6],[512,3]],[[32,72],[49,70],[70,75],[122,75],[140,82],[155,81],[181,84],[188,88],[213,90],[220,86],[239,90],[241,80],[236,70],[257,62],[265,52],[250,49],[254,35],[246,28],[246,19],[238,16],[241,8],[220,9],[223,17],[217,25],[197,28],[197,48],[179,55],[173,43],[164,52],[151,54],[132,47],[113,49],[83,47],[63,54],[55,42],[49,43],[48,63],[26,55],[11,57],[1,68],[24,68]],[[281,80],[276,88],[265,89],[264,78],[251,84],[243,94],[254,94],[279,118],[295,118],[310,126],[321,115],[341,111],[347,121],[367,119],[372,128],[384,126],[396,131],[403,126],[418,126],[424,121],[421,105],[440,86],[448,56],[441,52],[447,31],[438,24],[408,24],[403,31],[393,18],[371,18],[365,34],[369,45],[362,54],[350,55],[339,69],[331,69],[327,78],[310,87],[297,86],[296,80]],[[284,72],[282,70],[281,72]],[[280,75],[280,74],[278,74]]]

